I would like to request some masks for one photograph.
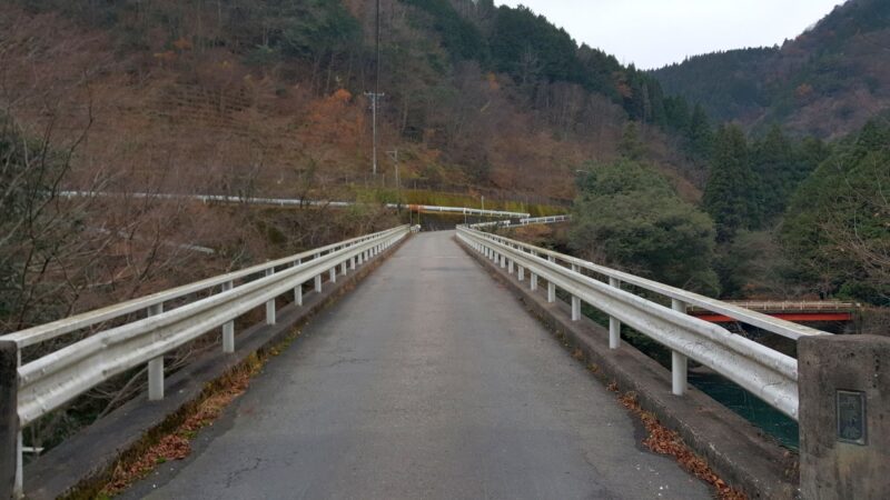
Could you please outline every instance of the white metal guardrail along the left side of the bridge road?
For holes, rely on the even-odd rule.
[[[320,292],[325,273],[336,282],[338,272],[346,274],[347,266],[356,269],[409,231],[408,226],[402,226],[354,238],[0,337],[14,342],[19,351],[17,491],[20,493],[22,486],[21,428],[146,363],[149,399],[162,399],[165,353],[217,329],[221,329],[224,352],[234,352],[236,318],[265,304],[266,323],[274,324],[277,297],[293,292],[294,302],[301,306],[305,283],[314,280],[315,291]],[[165,311],[165,303],[172,301],[176,308]],[[144,317],[129,320],[140,311],[145,311]],[[129,321],[102,329],[112,320]],[[22,349],[87,328],[99,331],[21,364]]]

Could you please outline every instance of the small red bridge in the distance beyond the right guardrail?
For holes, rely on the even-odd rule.
[[[740,308],[794,322],[852,321],[861,306],[838,301],[726,301]],[[733,323],[738,320],[701,308],[690,308],[689,313],[712,323]]]

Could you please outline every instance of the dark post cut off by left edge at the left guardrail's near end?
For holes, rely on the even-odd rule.
[[[0,498],[21,497],[19,346],[0,340]]]

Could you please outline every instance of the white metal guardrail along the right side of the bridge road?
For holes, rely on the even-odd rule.
[[[533,291],[537,290],[538,278],[544,279],[550,302],[556,301],[557,288],[568,292],[573,321],[581,318],[582,302],[607,313],[610,349],[620,346],[622,323],[669,348],[674,394],[682,396],[686,390],[688,359],[691,358],[798,419],[798,361],[691,317],[686,308],[694,306],[713,311],[794,340],[829,333],[468,227],[458,227],[457,237],[473,250],[507,268],[510,273],[516,268],[520,281],[524,281],[528,272]],[[670,298],[672,307],[622,290],[622,283]]]

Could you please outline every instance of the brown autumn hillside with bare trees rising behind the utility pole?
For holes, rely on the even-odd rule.
[[[6,107],[34,131],[90,123],[81,184],[339,198],[394,184],[388,154],[369,172],[372,1],[19,4],[0,16]],[[578,166],[615,157],[633,119],[699,197],[657,82],[545,18],[384,1],[380,38],[380,148],[399,151],[404,186],[571,200]]]

